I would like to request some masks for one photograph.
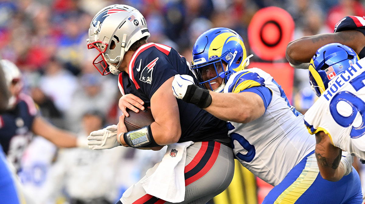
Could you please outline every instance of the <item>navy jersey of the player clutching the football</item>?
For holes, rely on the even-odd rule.
[[[119,75],[120,91],[123,95],[132,93],[138,96],[147,107],[150,106],[150,99],[155,91],[170,77],[180,74],[190,75],[195,79],[185,57],[171,47],[155,43],[138,48],[132,56],[128,71],[129,75],[126,72]],[[179,142],[210,141],[227,137],[225,121],[181,99],[177,99],[177,104],[181,125]]]

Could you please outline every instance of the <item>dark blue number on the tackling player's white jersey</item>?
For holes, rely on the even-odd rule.
[[[233,130],[235,127],[231,124],[231,123],[227,123],[227,128],[228,130]],[[250,144],[249,141],[247,141],[245,139],[245,137],[243,137],[242,135],[238,134],[238,133],[231,133],[230,137],[232,139],[232,149],[234,149],[234,144],[233,141],[238,141],[238,143],[247,151],[247,153],[244,155],[240,152],[238,152],[235,156],[238,159],[241,159],[242,161],[246,161],[246,162],[250,162],[253,160],[253,158],[256,155],[256,150],[255,150],[255,146]]]

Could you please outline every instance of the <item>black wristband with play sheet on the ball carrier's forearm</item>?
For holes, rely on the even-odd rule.
[[[160,146],[153,139],[151,125],[126,132],[123,134],[123,137],[124,142],[126,142],[129,147],[133,148]]]

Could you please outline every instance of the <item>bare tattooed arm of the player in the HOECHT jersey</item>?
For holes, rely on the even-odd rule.
[[[316,133],[315,155],[323,179],[338,181],[345,175],[345,168],[340,162],[342,149],[332,145],[330,137],[323,131]]]

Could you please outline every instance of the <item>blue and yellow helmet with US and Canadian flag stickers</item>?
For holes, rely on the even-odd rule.
[[[346,71],[359,60],[356,52],[339,43],[331,43],[319,48],[309,65],[309,80],[313,91],[319,97],[328,83]]]

